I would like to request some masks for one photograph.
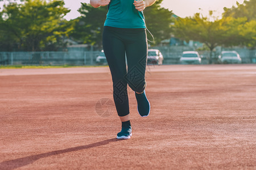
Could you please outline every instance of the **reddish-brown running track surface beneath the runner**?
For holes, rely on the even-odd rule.
[[[0,70],[0,169],[256,169],[256,65],[147,66],[133,137],[108,67]]]

